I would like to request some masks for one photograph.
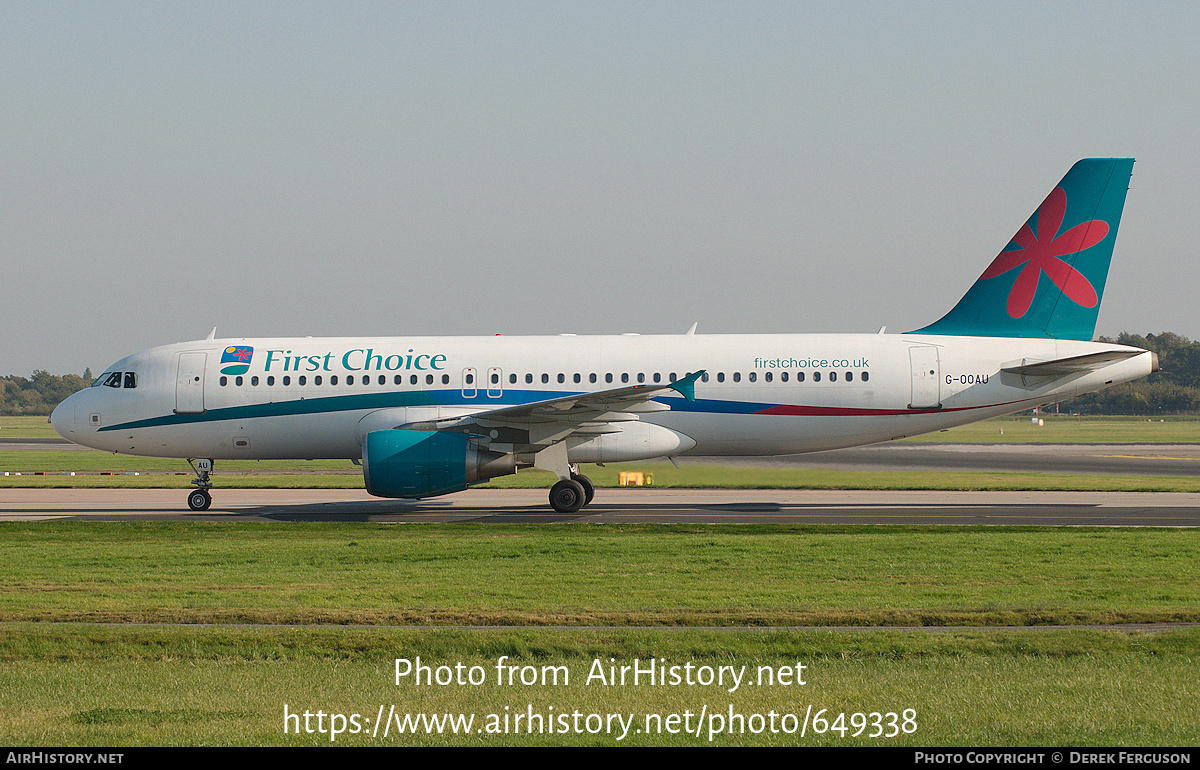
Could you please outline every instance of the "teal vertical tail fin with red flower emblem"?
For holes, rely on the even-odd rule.
[[[1075,163],[959,303],[908,333],[1091,339],[1133,158]]]

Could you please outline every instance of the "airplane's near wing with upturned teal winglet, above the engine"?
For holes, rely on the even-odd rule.
[[[536,449],[560,441],[576,433],[617,433],[614,425],[637,420],[637,414],[667,411],[666,404],[652,399],[668,391],[688,401],[696,399],[696,380],[703,371],[694,372],[666,385],[629,385],[590,393],[559,396],[515,407],[476,411],[461,417],[443,417],[410,423],[404,428],[472,433],[490,443],[512,444],[520,450]]]

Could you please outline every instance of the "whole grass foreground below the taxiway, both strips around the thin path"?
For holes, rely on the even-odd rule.
[[[0,741],[13,745],[330,742],[328,730],[284,734],[283,704],[480,720],[530,705],[640,720],[811,705],[829,722],[846,712],[844,727],[911,709],[916,730],[719,733],[715,745],[1193,745],[1200,734],[1200,630],[1036,630],[1200,619],[1193,530],[12,523],[0,545]],[[128,625],[146,621],[187,625]],[[769,627],[793,624],[864,631]],[[737,628],[748,625],[763,630]],[[418,656],[485,673],[509,656],[570,681],[397,685],[395,658]],[[596,661],[634,658],[804,663],[808,684],[586,684]],[[707,745],[716,727],[337,742]]]

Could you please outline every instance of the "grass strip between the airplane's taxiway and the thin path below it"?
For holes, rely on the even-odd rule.
[[[1190,529],[43,522],[0,546],[10,621],[1200,621]]]

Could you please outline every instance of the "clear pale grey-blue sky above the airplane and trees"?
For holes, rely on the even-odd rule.
[[[304,335],[937,319],[1135,157],[1098,333],[1200,336],[1195,2],[0,4],[0,374]]]

